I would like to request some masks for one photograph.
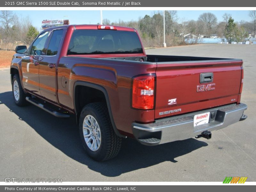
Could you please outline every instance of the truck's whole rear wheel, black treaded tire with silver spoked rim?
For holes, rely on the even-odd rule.
[[[86,105],[79,119],[80,137],[86,153],[96,161],[114,158],[122,143],[113,130],[105,103]]]

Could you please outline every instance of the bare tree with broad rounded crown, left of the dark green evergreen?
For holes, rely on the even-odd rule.
[[[217,23],[217,17],[210,12],[201,14],[198,17],[198,20],[204,23],[204,32],[206,35],[210,35],[212,27],[214,27]]]

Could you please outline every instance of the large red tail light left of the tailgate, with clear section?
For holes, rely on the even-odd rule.
[[[153,109],[154,92],[154,74],[134,77],[132,81],[132,107],[137,109]]]

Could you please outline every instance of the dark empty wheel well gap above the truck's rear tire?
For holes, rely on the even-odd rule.
[[[74,99],[77,118],[79,118],[82,108],[85,105],[94,102],[107,103],[105,95],[102,91],[83,85],[76,86]]]

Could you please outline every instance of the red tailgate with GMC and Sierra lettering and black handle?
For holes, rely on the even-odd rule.
[[[236,103],[242,63],[234,59],[157,63],[155,118]]]

